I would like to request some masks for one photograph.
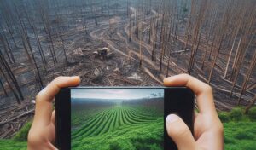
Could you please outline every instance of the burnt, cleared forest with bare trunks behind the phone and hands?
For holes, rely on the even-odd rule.
[[[247,113],[256,101],[253,0],[10,0],[0,13],[0,138],[32,118],[35,95],[61,75],[153,86],[189,73],[212,86],[219,111]]]

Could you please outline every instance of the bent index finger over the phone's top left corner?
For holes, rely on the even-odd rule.
[[[79,77],[55,78],[37,95],[34,122],[43,126],[49,124],[52,113],[52,101],[55,95],[60,91],[61,88],[77,86],[79,83]]]

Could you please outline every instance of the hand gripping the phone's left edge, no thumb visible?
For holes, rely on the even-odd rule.
[[[55,143],[55,111],[52,101],[61,88],[77,86],[79,77],[55,78],[36,97],[36,109],[32,127],[27,137],[28,150],[57,149]]]

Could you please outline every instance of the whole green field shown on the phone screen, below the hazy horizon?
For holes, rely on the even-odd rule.
[[[162,115],[149,112],[149,108],[126,105],[104,107],[86,120],[72,115],[72,148],[163,149]]]

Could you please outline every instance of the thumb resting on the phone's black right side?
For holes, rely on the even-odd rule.
[[[179,150],[195,149],[195,139],[189,127],[176,114],[166,117],[166,130]]]

